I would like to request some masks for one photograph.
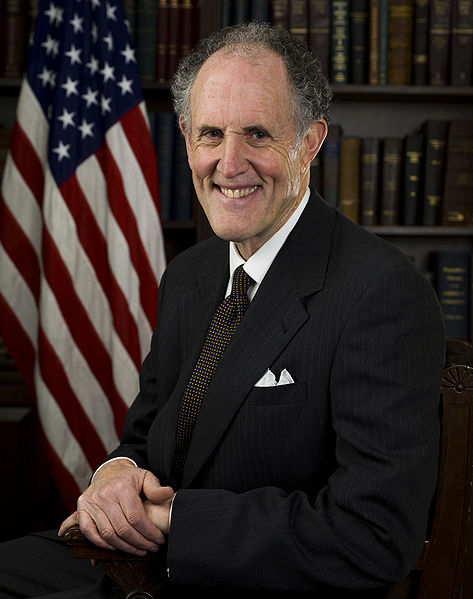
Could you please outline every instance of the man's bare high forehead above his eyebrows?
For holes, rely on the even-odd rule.
[[[289,85],[282,58],[265,49],[252,55],[219,50],[195,79],[191,112],[196,124],[210,118],[287,123]]]

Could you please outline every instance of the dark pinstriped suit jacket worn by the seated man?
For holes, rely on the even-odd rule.
[[[160,286],[141,391],[112,456],[163,484],[228,276],[228,244],[214,238],[173,260]],[[430,285],[313,196],[203,403],[174,502],[171,584],[325,597],[404,577],[436,484],[443,362]],[[295,383],[255,387],[268,368]]]

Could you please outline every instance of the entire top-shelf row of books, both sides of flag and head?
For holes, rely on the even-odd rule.
[[[199,39],[198,0],[123,0],[143,81],[165,83]],[[222,0],[222,26],[291,31],[334,84],[471,85],[473,0]],[[0,77],[21,77],[37,0],[0,0]]]

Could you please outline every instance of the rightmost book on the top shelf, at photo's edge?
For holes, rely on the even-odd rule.
[[[471,85],[473,66],[473,0],[453,0],[450,84]]]

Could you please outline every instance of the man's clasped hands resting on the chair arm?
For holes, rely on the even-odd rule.
[[[134,555],[158,551],[169,533],[174,497],[149,470],[129,460],[105,464],[77,501],[77,510],[59,528],[63,536],[74,525],[95,545]]]

